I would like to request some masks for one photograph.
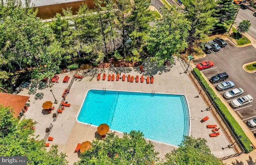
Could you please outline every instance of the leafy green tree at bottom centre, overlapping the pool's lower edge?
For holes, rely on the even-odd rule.
[[[142,132],[131,131],[122,138],[109,133],[103,141],[95,140],[92,148],[81,154],[75,165],[150,165],[158,161],[152,142]]]

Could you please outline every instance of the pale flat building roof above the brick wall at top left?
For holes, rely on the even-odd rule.
[[[24,4],[25,0],[21,0]],[[34,4],[36,7],[38,6],[48,6],[53,4],[62,4],[62,3],[68,3],[68,2],[78,2],[82,0],[31,0],[30,5]],[[6,0],[4,0],[6,2]]]

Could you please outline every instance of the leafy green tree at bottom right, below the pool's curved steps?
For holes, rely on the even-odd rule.
[[[186,136],[178,149],[165,155],[162,165],[224,165],[220,159],[211,154],[206,139]]]

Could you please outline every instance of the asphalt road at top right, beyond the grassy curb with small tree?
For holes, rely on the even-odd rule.
[[[239,9],[239,12],[236,16],[236,20],[234,24],[236,26],[239,25],[240,22],[243,20],[250,20],[250,23],[252,24],[249,31],[247,32],[251,37],[256,39],[256,17],[253,16],[254,12],[252,12],[249,9]]]

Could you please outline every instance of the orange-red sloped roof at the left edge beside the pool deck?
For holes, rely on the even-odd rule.
[[[13,108],[14,117],[18,117],[28,99],[28,96],[0,92],[0,104],[3,104],[5,107],[10,106],[10,108]]]

